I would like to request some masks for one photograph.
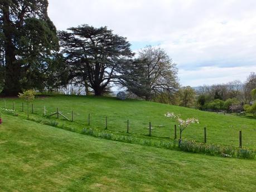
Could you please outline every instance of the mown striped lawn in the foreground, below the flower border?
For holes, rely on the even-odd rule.
[[[255,191],[253,160],[95,139],[3,116],[0,191]]]

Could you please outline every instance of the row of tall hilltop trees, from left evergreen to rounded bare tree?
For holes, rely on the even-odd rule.
[[[127,38],[107,27],[83,24],[57,31],[47,6],[47,0],[1,1],[2,94],[75,85],[100,96],[115,85],[152,100],[177,90],[176,64],[162,48],[147,46],[135,55]]]

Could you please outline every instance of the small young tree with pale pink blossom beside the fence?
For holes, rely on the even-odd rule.
[[[173,114],[173,112],[167,112],[165,114],[166,117],[169,117],[171,119],[176,119],[178,122],[178,128],[180,129],[180,139],[178,140],[178,146],[180,146],[181,143],[181,135],[182,132],[189,127],[190,124],[199,124],[199,120],[195,119],[194,117],[183,120],[180,118],[180,116]]]

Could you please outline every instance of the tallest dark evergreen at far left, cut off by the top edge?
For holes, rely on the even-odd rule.
[[[6,95],[17,95],[23,88],[43,88],[52,53],[59,48],[47,7],[47,0],[1,1],[0,50]]]

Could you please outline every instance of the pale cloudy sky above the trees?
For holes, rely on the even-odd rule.
[[[255,0],[49,0],[48,13],[59,30],[107,26],[134,52],[165,49],[183,86],[245,81],[256,72]]]

